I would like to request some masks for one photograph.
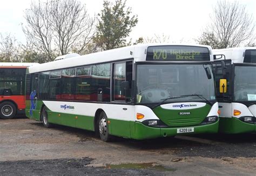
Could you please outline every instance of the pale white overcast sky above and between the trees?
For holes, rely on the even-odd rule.
[[[43,0],[41,0],[43,1]],[[80,0],[86,4],[91,15],[103,8],[103,0]],[[114,2],[114,0],[110,0]],[[229,0],[233,1],[233,0]],[[170,36],[170,42],[190,42],[200,36],[208,21],[212,7],[217,0],[127,0],[133,15],[138,15],[138,24],[131,32],[134,40],[139,37],[156,35]],[[21,24],[24,23],[24,11],[30,8],[31,0],[7,0],[0,5],[0,33],[11,33],[19,42],[25,43]],[[247,11],[256,20],[256,1],[240,0]]]

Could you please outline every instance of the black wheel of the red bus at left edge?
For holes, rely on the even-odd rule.
[[[12,119],[16,115],[16,106],[10,101],[5,101],[0,104],[0,118],[2,119]]]

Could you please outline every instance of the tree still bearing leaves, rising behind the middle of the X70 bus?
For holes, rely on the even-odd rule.
[[[125,10],[126,1],[116,0],[113,5],[104,1],[104,9],[98,14],[97,35],[94,38],[101,50],[110,50],[126,45],[126,37],[138,23],[137,15],[131,16],[131,8]]]

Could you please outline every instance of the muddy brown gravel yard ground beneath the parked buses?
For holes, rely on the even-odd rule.
[[[255,175],[256,134],[104,143],[94,133],[0,120],[0,175]]]

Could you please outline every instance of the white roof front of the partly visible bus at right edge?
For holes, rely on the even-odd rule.
[[[256,50],[256,47],[240,47],[240,48],[226,48],[215,49],[213,55],[225,55],[226,59],[231,59],[232,63],[244,63],[244,56],[246,50]],[[221,58],[219,60],[223,60]]]

